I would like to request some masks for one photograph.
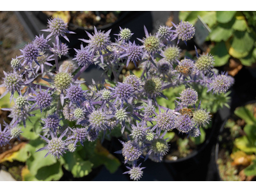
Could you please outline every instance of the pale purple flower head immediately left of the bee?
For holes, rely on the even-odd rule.
[[[162,131],[170,131],[175,128],[175,119],[176,115],[172,111],[167,110],[162,113],[162,111],[159,110],[159,114],[154,118],[157,124],[152,130],[158,127]]]

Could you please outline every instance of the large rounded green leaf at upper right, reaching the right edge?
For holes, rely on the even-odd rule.
[[[253,38],[251,33],[247,31],[234,31],[231,47],[242,54],[251,51],[254,42],[255,38]]]

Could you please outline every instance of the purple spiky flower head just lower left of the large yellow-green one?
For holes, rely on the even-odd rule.
[[[40,111],[42,113],[42,110],[45,108],[48,108],[49,106],[51,106],[51,102],[52,102],[52,93],[48,93],[50,88],[48,88],[47,90],[45,90],[45,92],[42,91],[42,88],[40,86],[40,90],[38,93],[35,92],[35,90],[31,89],[32,92],[35,94],[32,95],[32,99],[29,100],[34,100],[35,104],[33,104],[33,106],[31,107],[31,109],[33,109],[36,105],[40,107]]]

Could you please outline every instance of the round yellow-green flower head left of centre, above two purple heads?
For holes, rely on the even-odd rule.
[[[54,86],[58,90],[66,90],[72,83],[72,75],[67,72],[58,72],[54,77]]]

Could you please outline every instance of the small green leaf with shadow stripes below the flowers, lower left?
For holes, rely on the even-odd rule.
[[[74,164],[71,173],[74,177],[84,177],[92,172],[92,166],[90,161],[79,161]]]

